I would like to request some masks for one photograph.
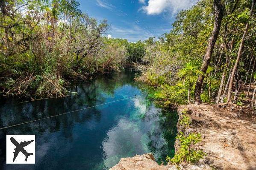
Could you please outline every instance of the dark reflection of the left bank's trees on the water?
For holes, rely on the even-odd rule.
[[[59,113],[74,111],[105,102],[106,97],[113,96],[115,89],[124,84],[133,83],[133,73],[115,73],[108,76],[98,77],[91,83],[76,83],[71,91],[77,92],[77,96],[70,96],[58,99],[43,99],[33,102],[17,104],[18,99],[1,99],[0,105],[0,127],[15,125],[21,122],[28,122],[35,119],[53,116]],[[81,114],[82,113],[82,114]],[[72,114],[72,116],[70,116]],[[48,134],[60,132],[70,142],[73,140],[73,127],[77,123],[91,121],[100,122],[101,112],[97,108],[90,108],[89,111],[79,111],[62,115],[43,121],[11,127],[0,131],[0,163],[6,155],[6,134]],[[62,130],[65,129],[65,130]],[[45,139],[47,140],[47,139]]]

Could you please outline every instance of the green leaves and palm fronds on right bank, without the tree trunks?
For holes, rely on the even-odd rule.
[[[250,27],[236,78],[245,80],[244,75],[246,73],[250,75],[251,54],[254,49],[252,42],[256,40],[255,10],[250,16],[251,2],[241,0],[235,6],[232,1],[222,2],[226,13],[205,74],[200,72],[201,60],[206,54],[208,40],[213,30],[214,8],[209,1],[201,0],[177,14],[169,33],[163,34],[159,41],[151,41],[146,45],[145,55],[142,58],[144,65],[138,65],[138,69],[142,72],[138,80],[158,87],[158,99],[162,105],[175,106],[194,102],[192,96],[194,96],[195,82],[201,74],[204,77],[201,99],[203,102],[215,102],[222,73],[226,71],[222,87],[224,88],[236,61],[245,24],[248,22]]]

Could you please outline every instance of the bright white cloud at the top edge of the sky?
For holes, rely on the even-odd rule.
[[[182,9],[187,9],[193,6],[197,0],[149,0],[147,6],[142,9],[148,15],[160,14],[164,11],[170,11],[172,14],[177,14]]]

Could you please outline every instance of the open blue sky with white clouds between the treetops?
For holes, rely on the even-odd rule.
[[[106,19],[109,38],[129,42],[159,37],[171,30],[176,14],[197,0],[77,0],[79,9],[98,21]]]

